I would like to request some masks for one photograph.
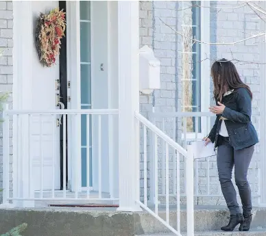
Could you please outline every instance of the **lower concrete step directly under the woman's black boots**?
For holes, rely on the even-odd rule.
[[[182,234],[186,236],[186,234]],[[137,236],[176,236],[172,233],[154,233],[146,235],[137,235]],[[266,236],[266,230],[260,229],[251,229],[249,232],[221,232],[221,231],[205,231],[205,232],[195,232],[195,236]]]

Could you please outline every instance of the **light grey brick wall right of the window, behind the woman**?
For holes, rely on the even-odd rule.
[[[243,38],[249,37],[250,34],[258,34],[260,31],[258,25],[259,20],[256,20],[258,17],[256,14],[254,14],[254,12],[252,12],[252,10],[250,10],[248,6],[243,8],[235,8],[240,4],[241,3],[238,3],[237,1],[211,1],[211,5],[217,8],[216,10],[211,10],[211,14],[216,17],[215,20],[217,25],[216,30],[211,31],[212,40],[215,40],[215,42],[236,42]],[[219,8],[223,9],[219,11]],[[211,22],[212,26],[215,26],[214,24],[215,21]],[[254,39],[235,44],[234,46],[219,45],[217,47],[211,47],[210,55],[211,59],[225,57],[228,60],[237,59],[251,62],[247,64],[240,62],[237,63],[236,66],[239,70],[241,79],[243,79],[243,81],[250,86],[254,94],[254,99],[252,101],[253,114],[258,114],[259,112],[258,101],[260,99],[260,68],[257,64],[252,64],[254,62],[258,62],[259,60],[260,47],[257,42],[258,39]],[[212,62],[213,60],[210,61],[210,63]],[[212,94],[210,94],[210,96],[212,96]],[[258,133],[259,120],[260,119],[258,116],[254,116],[252,119],[252,122]],[[257,173],[260,157],[259,146],[260,144],[256,145],[255,154],[248,172],[248,179],[252,184],[252,194],[256,194],[258,191]],[[213,165],[211,171],[214,172],[217,168],[216,162],[214,161],[213,163],[215,165]],[[254,172],[256,174],[255,178],[253,178]],[[217,183],[217,185],[219,185],[219,183]],[[215,189],[217,189],[216,186]],[[214,199],[214,201],[215,200],[216,199]],[[222,203],[224,204],[224,202]]]

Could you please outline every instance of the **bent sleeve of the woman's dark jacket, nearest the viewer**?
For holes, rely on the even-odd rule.
[[[239,88],[237,91],[237,107],[239,111],[234,111],[228,107],[223,110],[224,118],[234,122],[247,123],[251,120],[252,103],[250,94],[245,88]]]

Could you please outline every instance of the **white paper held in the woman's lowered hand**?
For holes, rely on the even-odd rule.
[[[204,158],[215,156],[215,146],[212,142],[209,142],[207,146],[204,145],[205,141],[192,142],[191,146],[194,153],[194,158]]]

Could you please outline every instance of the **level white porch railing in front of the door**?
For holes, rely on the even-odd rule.
[[[117,109],[8,110],[5,107],[3,203],[119,200],[113,192],[114,181],[117,181],[113,177],[114,168],[117,168],[113,153],[113,146],[117,145],[114,140],[117,114]],[[86,123],[86,142],[81,137],[82,118]],[[85,153],[82,147],[86,147],[85,187],[82,187],[81,174],[84,165],[81,157],[82,152]],[[96,168],[97,174],[90,173],[92,168],[93,171]],[[66,175],[69,182],[66,182]],[[97,179],[96,187],[95,181],[93,187],[90,186],[92,176]],[[58,186],[62,187],[59,191]]]

